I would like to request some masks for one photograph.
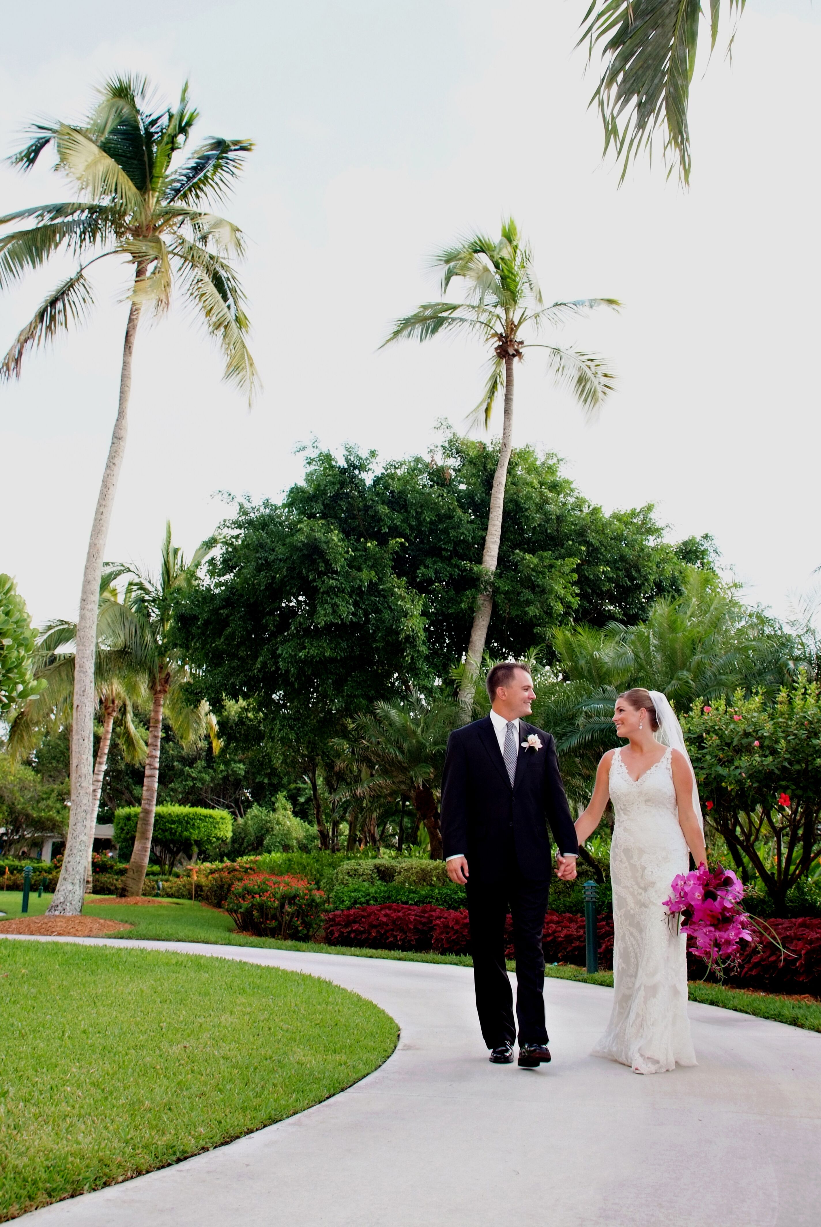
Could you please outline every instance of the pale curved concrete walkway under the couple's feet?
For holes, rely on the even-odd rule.
[[[369,1077],[298,1117],[175,1167],[26,1215],[32,1223],[821,1222],[821,1034],[691,1004],[698,1067],[638,1077],[588,1055],[607,1020],[611,990],[547,980],[553,1061],[528,1071],[487,1063],[466,968],[185,942],[135,945],[325,977],[383,1006],[401,1027],[399,1048]]]

